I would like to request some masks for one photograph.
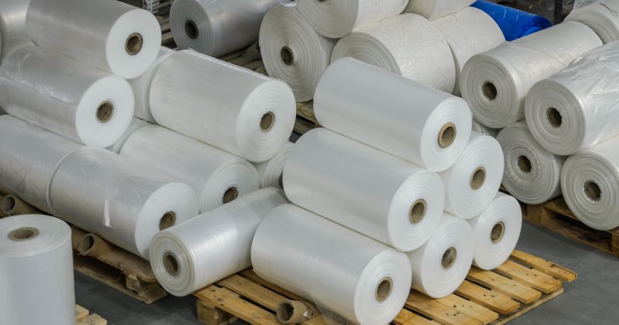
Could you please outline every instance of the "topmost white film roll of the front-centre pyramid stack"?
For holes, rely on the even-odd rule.
[[[322,76],[314,114],[327,129],[433,171],[455,164],[472,121],[461,98],[351,58]]]

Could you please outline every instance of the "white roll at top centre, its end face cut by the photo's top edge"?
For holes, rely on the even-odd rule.
[[[315,31],[330,38],[341,38],[401,14],[408,0],[300,0],[297,3]]]

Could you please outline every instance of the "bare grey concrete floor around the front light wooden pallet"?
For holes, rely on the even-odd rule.
[[[561,296],[509,324],[611,325],[619,319],[619,258],[524,223],[520,250],[578,273]],[[77,303],[110,325],[199,325],[194,297],[166,297],[147,306],[75,273]],[[241,323],[238,323],[241,324]]]

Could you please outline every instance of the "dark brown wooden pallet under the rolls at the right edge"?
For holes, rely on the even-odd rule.
[[[524,218],[554,233],[619,257],[619,228],[601,231],[588,227],[576,218],[562,197],[540,205],[529,205]]]

